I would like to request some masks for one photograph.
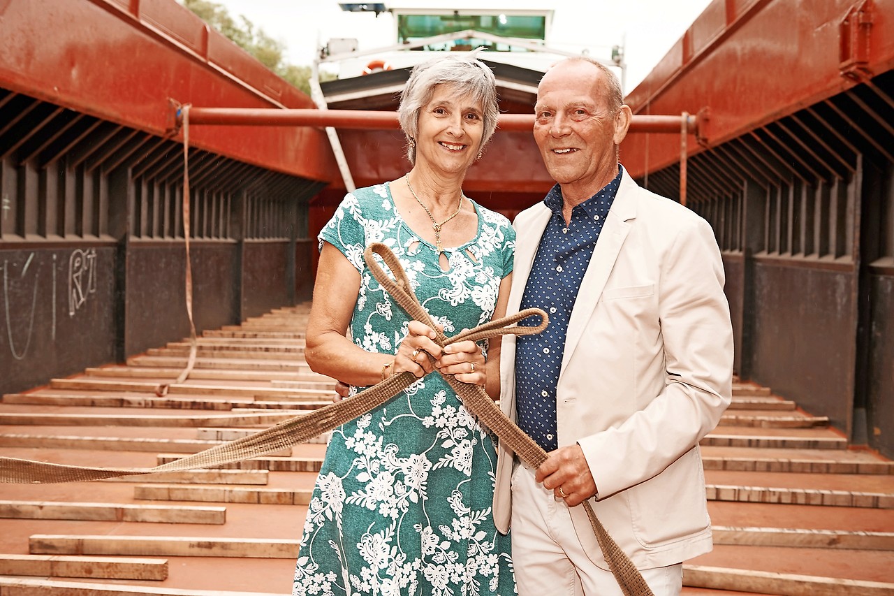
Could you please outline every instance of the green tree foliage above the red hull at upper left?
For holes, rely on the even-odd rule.
[[[261,64],[283,77],[285,81],[310,95],[310,66],[296,66],[285,62],[283,42],[271,38],[260,27],[255,27],[255,24],[244,15],[240,14],[238,19],[233,19],[222,4],[210,2],[210,0],[182,0],[182,2],[199,19],[207,22],[208,25],[250,55],[255,56]],[[329,81],[334,78],[335,75],[329,72],[320,73],[321,81]]]

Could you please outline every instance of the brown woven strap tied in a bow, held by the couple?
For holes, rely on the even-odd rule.
[[[375,261],[375,254],[384,260],[385,265],[391,270],[394,279],[388,277]],[[428,316],[425,308],[418,302],[416,294],[413,293],[412,286],[409,284],[406,272],[401,268],[400,261],[387,246],[381,243],[371,244],[364,253],[364,259],[367,261],[367,266],[372,271],[375,279],[392,295],[394,301],[404,311],[407,311],[410,317],[425,323],[435,330],[437,334],[435,343],[438,345],[444,346],[465,340],[479,341],[488,337],[507,334],[516,336],[534,335],[544,330],[549,322],[544,311],[527,309],[509,317],[495,319],[479,325],[477,328],[463,331],[456,336],[444,336],[443,332],[434,325],[434,321]],[[514,325],[514,323],[533,315],[541,318],[540,325],[535,327]],[[463,383],[450,374],[444,374],[443,377],[451,388],[456,391],[457,395],[460,396],[466,409],[477,416],[479,421],[496,434],[502,446],[509,447],[510,450],[519,456],[522,462],[532,468],[540,467],[540,464],[544,463],[546,452],[543,447],[537,445],[534,439],[528,437],[523,430],[510,421],[497,404],[494,404],[482,387]],[[368,387],[350,399],[326,405],[314,412],[295,416],[248,437],[217,445],[195,455],[183,457],[167,464],[157,465],[154,468],[98,468],[0,457],[0,482],[94,481],[137,474],[208,468],[240,462],[251,457],[265,456],[307,441],[309,438],[314,438],[329,430],[336,429],[345,422],[354,420],[386,403],[417,380],[413,373],[401,372],[401,374],[393,375],[373,387]],[[584,501],[583,505],[590,524],[593,526],[599,547],[603,551],[603,558],[605,558],[611,573],[617,579],[621,592],[624,592],[625,596],[654,596],[637,567],[633,565],[628,556],[619,548],[609,533],[605,531],[603,524],[596,517],[590,503]]]

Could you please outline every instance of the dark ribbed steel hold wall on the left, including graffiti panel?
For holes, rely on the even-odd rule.
[[[324,183],[201,149],[189,172],[198,331],[306,299]],[[176,141],[0,89],[0,394],[189,335],[183,178]]]

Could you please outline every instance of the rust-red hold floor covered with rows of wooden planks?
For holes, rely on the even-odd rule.
[[[308,305],[3,396],[0,456],[150,467],[331,403],[304,363]],[[687,596],[894,594],[894,463],[739,383],[702,441],[713,552]],[[229,469],[0,485],[0,596],[283,596],[325,438]],[[673,498],[669,495],[668,498]]]

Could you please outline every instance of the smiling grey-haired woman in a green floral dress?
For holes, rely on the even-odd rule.
[[[305,355],[352,391],[403,371],[419,380],[333,432],[293,594],[512,594],[510,540],[491,513],[493,437],[440,375],[426,377],[441,370],[498,396],[499,338],[442,350],[362,257],[388,245],[448,336],[503,316],[515,235],[462,192],[496,127],[493,73],[472,55],[419,64],[399,113],[412,169],[349,193],[320,233]]]

